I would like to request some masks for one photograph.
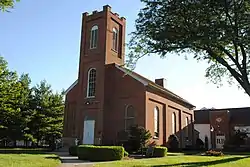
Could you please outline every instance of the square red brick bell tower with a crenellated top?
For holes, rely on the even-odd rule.
[[[125,25],[126,19],[113,13],[109,5],[82,16],[77,112],[82,124],[95,121],[95,141],[103,131],[105,65],[124,64]],[[84,130],[78,130],[80,138]]]

